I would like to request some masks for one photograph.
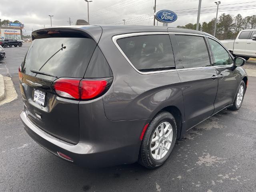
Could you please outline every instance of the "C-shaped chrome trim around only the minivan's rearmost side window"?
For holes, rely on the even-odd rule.
[[[126,37],[134,37],[134,36],[142,36],[142,35],[168,35],[168,32],[141,32],[141,33],[127,33],[127,34],[122,34],[122,35],[115,35],[112,37],[112,41],[118,48],[118,50],[121,52],[121,54],[124,56],[124,58],[128,61],[128,63],[136,70],[136,72],[140,74],[156,74],[156,73],[165,73],[165,72],[174,72],[177,71],[176,69],[171,69],[171,70],[160,70],[160,71],[150,71],[150,72],[141,72],[139,71],[133,64],[132,62],[128,59],[128,57],[124,54],[120,46],[117,44],[117,40],[121,38],[126,38]]]

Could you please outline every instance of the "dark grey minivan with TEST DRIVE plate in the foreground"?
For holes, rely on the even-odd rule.
[[[187,130],[238,110],[247,87],[245,60],[204,32],[68,26],[32,38],[20,118],[38,144],[82,166],[161,166]]]

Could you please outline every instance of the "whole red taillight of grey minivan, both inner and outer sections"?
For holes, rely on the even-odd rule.
[[[112,78],[60,78],[54,82],[53,88],[56,94],[61,97],[90,100],[102,96],[108,90],[111,83]]]

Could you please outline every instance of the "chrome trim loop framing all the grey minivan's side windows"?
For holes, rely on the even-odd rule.
[[[206,69],[206,68],[224,68],[224,67],[232,67],[233,66],[233,64],[230,64],[230,65],[220,65],[220,66],[206,66],[206,67],[194,67],[194,68],[184,68],[184,69],[171,69],[171,70],[141,72],[132,64],[132,62],[124,54],[124,52],[122,51],[122,49],[120,48],[120,46],[117,43],[118,39],[126,38],[126,37],[134,37],[134,36],[142,36],[142,35],[168,35],[168,34],[201,36],[201,37],[211,38],[212,40],[215,40],[215,41],[217,40],[216,38],[212,38],[212,37],[207,36],[207,35],[194,34],[194,33],[184,33],[184,32],[139,32],[139,33],[127,33],[127,34],[115,35],[115,36],[112,37],[112,41],[115,44],[116,48],[118,48],[120,53],[124,56],[124,58],[130,64],[130,66],[132,66],[132,68],[134,68],[134,70],[136,70],[136,72],[138,72],[140,74],[157,74],[157,73],[174,72],[174,71],[197,70],[197,69]],[[217,42],[220,43],[218,40],[217,40]],[[220,43],[220,45],[222,45],[222,44]],[[228,52],[228,54],[230,54],[230,52],[226,49],[225,46],[222,45],[222,47]],[[232,56],[232,55],[230,54],[230,56]],[[234,58],[234,57],[232,56],[232,58]]]

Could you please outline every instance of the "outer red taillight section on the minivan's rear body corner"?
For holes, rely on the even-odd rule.
[[[82,80],[80,82],[81,99],[92,99],[101,94],[108,82],[106,80]]]

